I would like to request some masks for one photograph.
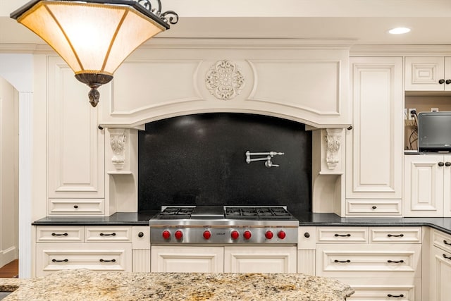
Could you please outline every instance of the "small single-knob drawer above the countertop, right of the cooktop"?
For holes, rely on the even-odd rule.
[[[401,199],[347,199],[346,215],[378,216],[401,215]]]

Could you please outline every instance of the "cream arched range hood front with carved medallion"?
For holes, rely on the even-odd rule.
[[[270,40],[138,49],[102,87],[99,125],[142,129],[193,113],[254,113],[313,128],[351,122],[349,47]],[[189,44],[189,46],[188,46]],[[336,43],[335,43],[336,44]]]

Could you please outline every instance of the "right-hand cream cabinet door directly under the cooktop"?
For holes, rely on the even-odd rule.
[[[296,273],[296,247],[225,247],[226,273]]]

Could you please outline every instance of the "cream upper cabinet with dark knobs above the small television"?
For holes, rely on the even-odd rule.
[[[451,91],[451,57],[406,57],[406,91]]]

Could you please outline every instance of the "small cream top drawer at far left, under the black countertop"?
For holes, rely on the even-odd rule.
[[[82,226],[37,226],[37,242],[83,242]]]

